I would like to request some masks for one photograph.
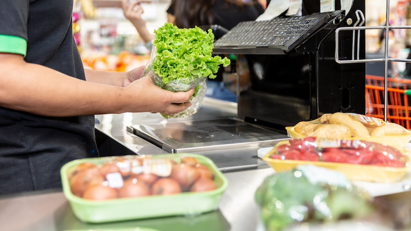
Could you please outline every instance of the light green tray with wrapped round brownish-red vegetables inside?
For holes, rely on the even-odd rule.
[[[74,160],[61,177],[74,215],[92,223],[199,215],[228,187],[211,159],[192,153]]]

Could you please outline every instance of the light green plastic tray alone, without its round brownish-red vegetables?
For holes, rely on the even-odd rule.
[[[217,209],[221,196],[228,187],[228,180],[211,159],[193,153],[153,155],[152,158],[167,158],[179,163],[181,156],[194,157],[199,163],[209,167],[214,173],[217,188],[207,192],[182,192],[170,196],[119,198],[106,201],[90,201],[74,196],[70,190],[69,174],[81,163],[91,162],[101,165],[113,159],[113,157],[102,157],[74,160],[65,164],[61,168],[63,192],[70,202],[74,215],[81,221],[90,223],[176,215],[193,216]]]

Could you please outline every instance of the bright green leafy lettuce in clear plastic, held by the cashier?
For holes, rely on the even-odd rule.
[[[207,78],[215,79],[219,66],[228,66],[230,60],[212,55],[214,34],[211,29],[180,29],[171,23],[165,23],[154,33],[151,60],[146,68],[146,72],[151,72],[154,83],[173,92],[196,88],[189,108],[172,116],[162,116],[189,117],[202,104],[207,91]]]

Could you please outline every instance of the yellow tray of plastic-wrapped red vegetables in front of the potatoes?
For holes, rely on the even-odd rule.
[[[409,171],[409,151],[361,140],[308,137],[275,145],[263,160],[276,172],[315,165],[342,172],[351,181],[394,183]]]

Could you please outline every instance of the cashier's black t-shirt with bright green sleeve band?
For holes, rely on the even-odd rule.
[[[85,80],[72,7],[73,0],[0,1],[0,52]],[[0,194],[61,187],[65,163],[95,156],[93,115],[56,118],[0,107]]]

